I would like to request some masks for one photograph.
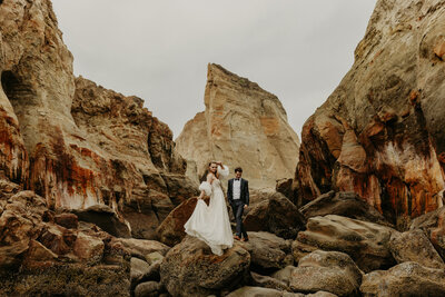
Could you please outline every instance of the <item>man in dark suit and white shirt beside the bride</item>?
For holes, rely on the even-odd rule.
[[[243,225],[243,212],[249,205],[249,182],[241,178],[241,176],[243,168],[235,168],[235,178],[229,179],[229,185],[227,187],[227,199],[234,210],[237,222],[236,236],[234,238],[241,241],[248,241],[249,237],[247,236],[246,229]]]

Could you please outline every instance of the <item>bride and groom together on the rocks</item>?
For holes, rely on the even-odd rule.
[[[188,235],[195,236],[205,241],[215,255],[221,256],[222,249],[234,245],[234,238],[247,241],[246,229],[243,226],[243,212],[249,204],[249,186],[246,179],[241,178],[243,169],[235,169],[235,177],[229,180],[227,198],[236,218],[236,236],[231,235],[229,215],[227,212],[226,200],[221,189],[220,177],[227,177],[229,169],[221,162],[212,161],[209,164],[205,179],[199,186],[201,194],[198,197],[195,210],[188,221],[184,225]],[[210,196],[209,206],[202,200],[205,196]],[[243,238],[241,238],[243,236]]]

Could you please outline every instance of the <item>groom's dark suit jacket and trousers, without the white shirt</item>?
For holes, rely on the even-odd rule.
[[[227,187],[227,199],[234,210],[234,216],[237,222],[236,232],[238,237],[241,237],[241,234],[245,238],[247,238],[246,229],[243,225],[243,212],[244,206],[249,205],[249,182],[240,178],[240,195],[239,199],[234,199],[234,181],[235,178],[229,179],[229,185]]]

